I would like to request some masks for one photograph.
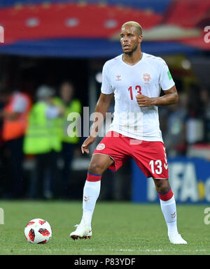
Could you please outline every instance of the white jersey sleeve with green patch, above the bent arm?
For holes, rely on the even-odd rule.
[[[164,60],[161,62],[160,66],[160,86],[163,91],[172,88],[175,85],[172,78],[172,74],[169,71],[169,68]]]

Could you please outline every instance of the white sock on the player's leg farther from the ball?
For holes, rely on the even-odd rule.
[[[168,228],[168,235],[178,233],[177,231],[177,217],[176,217],[176,201],[174,195],[168,201],[160,199],[160,206]]]

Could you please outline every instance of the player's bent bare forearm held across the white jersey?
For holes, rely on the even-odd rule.
[[[177,101],[179,100],[179,96],[175,85],[170,89],[165,90],[164,93],[165,95],[160,97],[148,97],[145,95],[138,94],[136,96],[137,103],[140,107],[167,106],[172,105],[173,103],[177,103]]]

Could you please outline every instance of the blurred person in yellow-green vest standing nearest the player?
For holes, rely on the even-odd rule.
[[[57,106],[61,106],[65,110],[63,117],[57,119],[57,128],[62,140],[62,159],[64,162],[62,168],[62,198],[69,198],[71,192],[69,190],[71,163],[76,145],[80,142],[80,127],[78,126],[78,128],[69,131],[68,126],[70,122],[68,116],[73,115],[76,124],[79,124],[81,103],[78,99],[74,98],[74,85],[70,81],[62,82],[59,87],[59,97],[55,97],[53,100]]]

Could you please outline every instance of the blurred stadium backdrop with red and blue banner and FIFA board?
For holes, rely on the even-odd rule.
[[[207,0],[148,1],[15,1],[0,3],[1,81],[34,98],[45,83],[52,87],[68,78],[76,97],[93,112],[100,94],[100,73],[107,59],[121,53],[118,31],[136,20],[144,30],[142,50],[167,61],[180,94],[177,106],[160,108],[169,173],[176,201],[210,201],[210,77]],[[210,27],[209,27],[210,28]],[[80,145],[83,142],[80,140]],[[69,199],[80,199],[90,157],[76,150],[69,178]],[[92,145],[93,150],[95,145]],[[3,142],[1,142],[1,149]],[[8,167],[1,154],[0,197]],[[7,163],[8,165],[8,163]],[[25,156],[22,198],[33,198],[33,157]],[[104,174],[101,200],[158,202],[154,185],[135,163]]]

